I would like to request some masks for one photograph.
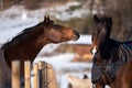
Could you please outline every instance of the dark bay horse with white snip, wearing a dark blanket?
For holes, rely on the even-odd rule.
[[[98,18],[94,15],[95,26],[92,32],[92,72],[91,81],[96,88],[112,87],[117,70],[132,58],[132,41],[119,42],[110,37],[112,18]]]

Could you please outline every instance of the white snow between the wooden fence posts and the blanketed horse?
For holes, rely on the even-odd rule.
[[[53,66],[56,72],[57,80],[61,88],[67,88],[68,80],[67,75],[72,74],[82,78],[84,74],[87,74],[89,78],[91,77],[90,72],[88,68],[91,68],[91,63],[74,63],[72,59],[74,58],[75,54],[66,53],[59,54],[57,56],[51,57],[37,57],[34,63],[38,62],[46,62]]]

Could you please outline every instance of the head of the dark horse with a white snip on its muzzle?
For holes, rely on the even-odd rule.
[[[92,46],[91,52],[96,53],[106,38],[110,37],[111,28],[112,28],[112,18],[111,16],[103,16],[98,18],[96,14],[94,15],[95,26],[92,32]]]

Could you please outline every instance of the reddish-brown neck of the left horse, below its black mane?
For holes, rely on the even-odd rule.
[[[11,66],[11,61],[13,59],[19,59],[22,64],[28,59],[33,62],[42,47],[50,43],[44,36],[44,29],[42,30],[42,26],[30,29],[34,31],[25,34],[25,36],[18,36],[6,46],[3,45],[4,57],[9,66]]]

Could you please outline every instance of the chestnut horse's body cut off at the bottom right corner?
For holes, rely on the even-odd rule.
[[[112,88],[132,88],[132,62],[128,62],[119,68]]]

